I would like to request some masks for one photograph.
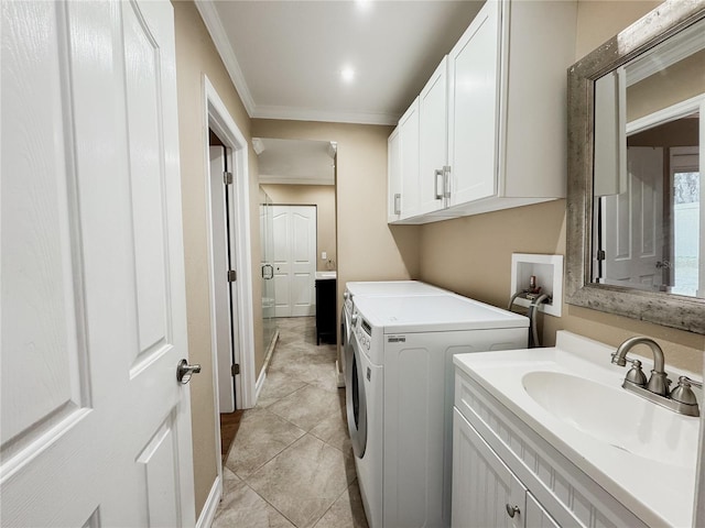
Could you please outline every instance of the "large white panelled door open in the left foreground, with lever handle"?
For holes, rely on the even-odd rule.
[[[172,6],[2,2],[2,526],[193,526]]]

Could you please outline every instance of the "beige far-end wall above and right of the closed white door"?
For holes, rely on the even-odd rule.
[[[333,185],[262,184],[273,205],[316,206],[316,270],[335,270],[336,254],[335,187]],[[321,258],[322,252],[327,260]]]

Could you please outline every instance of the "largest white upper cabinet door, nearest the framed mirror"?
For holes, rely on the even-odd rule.
[[[500,2],[486,2],[448,54],[449,205],[497,194]]]

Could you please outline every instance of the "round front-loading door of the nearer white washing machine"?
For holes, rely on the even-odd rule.
[[[350,332],[349,346],[346,349],[345,392],[348,417],[348,431],[352,452],[358,459],[365,455],[367,448],[367,399],[365,397],[365,372],[360,362],[360,345],[355,332]]]

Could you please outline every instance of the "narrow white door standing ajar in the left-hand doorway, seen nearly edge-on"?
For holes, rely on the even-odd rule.
[[[236,409],[232,365],[237,353],[237,299],[232,280],[228,272],[235,270],[235,234],[231,227],[234,215],[229,208],[232,198],[232,184],[226,185],[225,174],[231,174],[227,167],[228,155],[225,146],[210,147],[210,233],[213,255],[213,302],[215,308],[215,338],[217,349],[218,402],[220,413],[234,413]]]

